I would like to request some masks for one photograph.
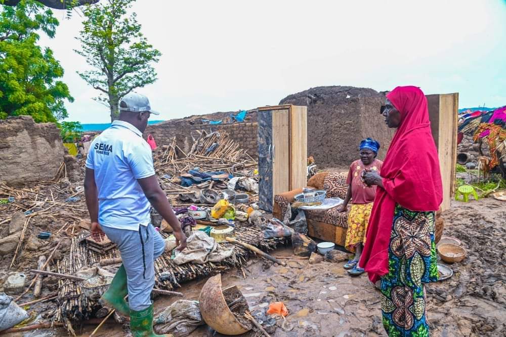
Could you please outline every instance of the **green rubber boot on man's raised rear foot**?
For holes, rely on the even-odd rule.
[[[127,294],[126,270],[123,264],[121,264],[111,284],[109,284],[109,289],[104,292],[99,302],[104,307],[115,309],[121,316],[129,317],[130,308],[125,301],[125,296]]]

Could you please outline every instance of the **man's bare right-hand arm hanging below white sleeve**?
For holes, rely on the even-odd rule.
[[[186,235],[181,229],[181,224],[178,218],[172,210],[171,204],[167,200],[167,196],[158,185],[156,176],[147,178],[137,179],[139,185],[141,185],[146,198],[156,209],[159,215],[169,224],[174,230],[174,236],[176,237],[176,243],[179,245],[178,250],[183,250],[186,247]]]

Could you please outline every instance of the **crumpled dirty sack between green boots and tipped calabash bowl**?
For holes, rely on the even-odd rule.
[[[204,324],[198,301],[178,300],[165,308],[154,319],[156,333],[172,333],[175,337],[190,335]]]

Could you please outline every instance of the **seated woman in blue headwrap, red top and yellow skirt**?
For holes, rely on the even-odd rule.
[[[361,141],[359,146],[360,160],[352,162],[346,180],[348,192],[340,212],[346,212],[346,207],[351,199],[352,205],[348,215],[345,248],[354,252],[355,257],[344,265],[345,269],[350,269],[348,271],[350,275],[360,275],[364,272],[364,269],[358,265],[358,261],[362,254],[362,245],[365,242],[365,233],[371,214],[372,202],[376,195],[376,186],[367,186],[362,179],[362,175],[365,172],[379,172],[381,170],[383,161],[376,159],[378,149],[379,143],[371,138]]]

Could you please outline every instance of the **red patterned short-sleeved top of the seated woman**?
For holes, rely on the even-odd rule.
[[[351,185],[351,203],[364,204],[374,201],[376,186],[369,187],[365,185],[362,181],[362,173],[364,171],[378,171],[378,173],[381,173],[382,165],[383,161],[379,159],[374,159],[369,165],[364,165],[360,159],[351,163],[348,178],[346,179],[346,183]]]

